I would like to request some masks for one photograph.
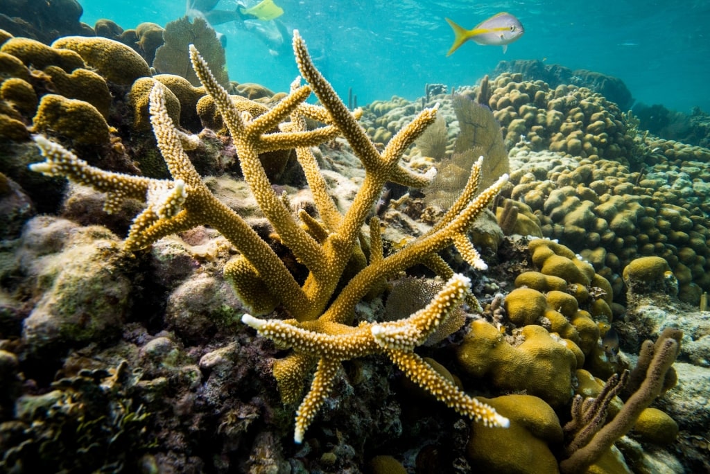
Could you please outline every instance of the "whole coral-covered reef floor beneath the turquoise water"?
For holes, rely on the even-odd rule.
[[[2,472],[710,472],[703,111],[538,62],[356,109],[305,50],[319,106],[220,102],[204,23],[3,11]]]

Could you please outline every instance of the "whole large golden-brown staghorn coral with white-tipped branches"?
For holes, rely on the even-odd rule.
[[[370,248],[366,258],[365,246],[361,246],[366,241],[361,233],[385,182],[422,187],[431,180],[432,175],[415,174],[399,161],[415,138],[435,121],[437,107],[423,110],[379,153],[359,125],[359,113],[347,109],[315,68],[297,31],[293,36],[293,48],[308,85],[300,85],[297,79],[287,97],[258,117],[245,112],[240,114],[235,109],[229,95],[215,81],[194,46],[190,47],[190,57],[197,76],[229,128],[244,180],[261,211],[280,241],[310,272],[303,285],[299,285],[244,219],[209,192],[185,154],[183,146],[190,143],[190,137],[173,125],[165,109],[160,84],[153,87],[150,95],[151,123],[158,147],[173,176],[172,181],[99,170],[42,136],[35,136],[35,142],[46,160],[31,165],[31,168],[45,175],[65,176],[106,192],[105,209],[109,212],[128,197],[145,199],[146,209],[136,216],[126,238],[127,250],[149,246],[164,236],[198,225],[216,228],[239,250],[240,255],[225,265],[224,275],[241,299],[254,314],[266,314],[280,305],[293,318],[264,320],[245,314],[242,319],[262,336],[293,348],[292,355],[277,360],[274,365],[274,375],[285,402],[297,401],[307,375],[317,363],[310,391],[297,410],[295,441],[302,441],[305,430],[328,397],[341,361],[371,353],[387,355],[408,377],[457,412],[482,421],[486,426],[507,427],[508,419],[439,375],[414,353],[414,348],[420,346],[464,298],[470,297],[469,280],[454,275],[437,252],[453,245],[474,268],[486,268],[466,234],[508,176],[503,175],[491,187],[476,194],[481,168],[479,160],[472,167],[469,182],[458,201],[439,223],[424,236],[388,256],[383,255],[379,221],[372,218],[368,223]],[[322,106],[305,103],[311,92],[315,92]],[[305,127],[305,118],[325,125],[309,131]],[[280,132],[267,133],[275,126],[280,127]],[[344,214],[329,197],[310,148],[337,135],[348,140],[366,170],[364,183]],[[283,199],[273,191],[259,161],[260,153],[290,148],[297,151],[297,160],[305,172],[320,220],[300,211],[299,223]],[[384,279],[417,263],[429,266],[448,280],[425,309],[400,321],[364,323],[357,327],[347,324],[362,297],[381,285]],[[359,272],[334,297],[348,265],[355,265]]]

